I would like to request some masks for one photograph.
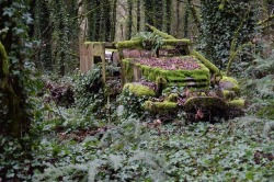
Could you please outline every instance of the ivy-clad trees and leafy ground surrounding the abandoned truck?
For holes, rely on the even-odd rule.
[[[272,181],[273,0],[0,0],[0,181]],[[100,70],[81,75],[85,41],[129,39],[145,23],[238,78],[244,115],[167,124]],[[231,64],[229,64],[231,62]]]

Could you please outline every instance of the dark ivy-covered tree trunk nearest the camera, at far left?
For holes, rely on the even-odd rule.
[[[25,60],[30,56],[25,44],[31,18],[27,1],[13,3],[3,0],[0,7],[5,8],[0,9],[0,14],[3,14],[0,30],[7,30],[0,32],[0,135],[20,138],[28,133],[32,120],[27,103],[31,90],[27,84],[31,82],[25,72]]]

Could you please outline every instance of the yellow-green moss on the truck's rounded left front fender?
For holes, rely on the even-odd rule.
[[[156,93],[149,87],[142,86],[140,83],[126,83],[123,90],[128,90],[129,92],[134,93],[136,96],[155,96]]]

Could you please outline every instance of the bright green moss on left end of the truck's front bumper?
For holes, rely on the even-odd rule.
[[[169,101],[163,101],[163,102],[146,101],[145,102],[145,110],[148,110],[150,112],[157,112],[157,113],[174,111],[176,106],[178,106],[176,102],[169,102]]]

